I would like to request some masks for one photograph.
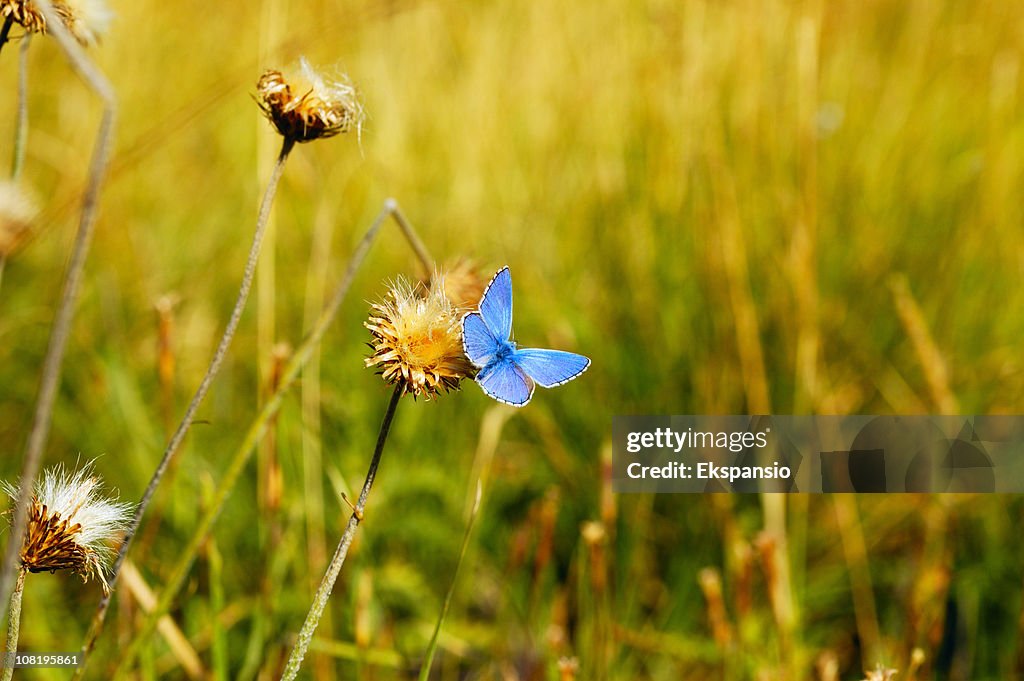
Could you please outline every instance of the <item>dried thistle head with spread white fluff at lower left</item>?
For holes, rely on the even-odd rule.
[[[22,544],[24,569],[70,569],[85,582],[98,579],[109,591],[103,571],[113,556],[110,544],[128,527],[132,505],[102,497],[100,485],[91,465],[74,473],[59,465],[43,472],[36,481]],[[16,486],[7,482],[2,486],[17,500]]]

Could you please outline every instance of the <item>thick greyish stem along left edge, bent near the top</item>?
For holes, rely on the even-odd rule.
[[[39,472],[43,449],[49,436],[50,421],[53,416],[53,400],[56,397],[57,383],[60,380],[60,369],[63,365],[68,337],[71,335],[71,324],[75,316],[75,301],[78,299],[82,273],[85,270],[86,256],[92,243],[93,227],[96,222],[96,205],[99,201],[99,187],[106,173],[110,159],[111,138],[117,115],[117,101],[114,88],[103,74],[89,60],[82,47],[68,35],[63,23],[54,14],[49,0],[37,0],[38,8],[43,12],[50,33],[63,50],[68,61],[75,72],[85,81],[89,88],[102,101],[103,114],[96,131],[96,142],[92,150],[92,160],[89,166],[89,179],[82,197],[82,213],[79,219],[78,233],[72,247],[71,259],[68,263],[68,273],[65,278],[63,291],[53,318],[53,329],[50,332],[49,345],[43,359],[43,369],[39,381],[39,396],[36,399],[36,411],[33,416],[32,429],[26,442],[22,477],[18,486],[18,498],[14,504],[14,518],[7,540],[7,550],[3,556],[0,569],[0,602],[7,600],[11,583],[16,569],[17,552],[25,526],[28,522],[29,500],[32,498],[33,483]]]

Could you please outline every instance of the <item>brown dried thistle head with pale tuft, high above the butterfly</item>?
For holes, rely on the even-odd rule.
[[[362,130],[362,104],[347,79],[327,80],[299,59],[299,73],[265,72],[256,83],[256,101],[286,139],[308,142]]]

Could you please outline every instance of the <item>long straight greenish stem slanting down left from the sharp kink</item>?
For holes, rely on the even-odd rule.
[[[160,599],[156,607],[153,608],[147,620],[135,634],[135,639],[129,646],[127,652],[121,655],[119,668],[127,669],[130,666],[131,662],[137,654],[137,651],[141,647],[140,641],[144,641],[153,634],[153,631],[156,629],[157,622],[168,611],[175,596],[177,596],[178,591],[185,583],[185,580],[188,577],[188,570],[191,567],[193,561],[196,559],[196,555],[199,552],[200,547],[213,527],[213,523],[216,521],[220,510],[224,506],[224,502],[230,495],[236,481],[242,474],[246,463],[249,461],[249,457],[267,432],[270,421],[281,409],[285,394],[292,387],[292,385],[294,385],[299,374],[302,372],[302,369],[312,356],[313,350],[319,345],[327,329],[331,326],[335,316],[337,316],[338,310],[341,308],[341,303],[345,300],[348,290],[351,288],[352,281],[355,279],[355,273],[358,271],[362,261],[367,257],[367,254],[370,252],[370,247],[373,245],[374,240],[377,238],[377,233],[383,226],[384,220],[389,216],[393,216],[392,206],[393,201],[389,200],[388,202],[385,202],[384,208],[377,215],[374,223],[355,247],[355,251],[352,252],[352,256],[349,258],[348,268],[345,270],[345,275],[338,284],[337,289],[335,289],[331,301],[328,303],[327,307],[324,308],[324,311],[321,313],[319,318],[316,320],[316,324],[309,332],[309,335],[302,342],[302,344],[299,345],[295,354],[292,355],[292,358],[289,359],[288,364],[285,366],[276,391],[267,398],[259,414],[256,416],[256,419],[250,424],[249,430],[246,432],[242,443],[231,456],[231,460],[228,463],[224,477],[217,484],[216,491],[207,504],[206,512],[203,517],[200,518],[199,524],[193,530],[193,536],[188,540],[188,545],[182,550],[180,557],[178,558],[178,562],[170,570],[170,577],[165,583],[166,586],[160,594]],[[92,650],[96,639],[102,631],[106,605],[108,603],[105,601],[101,601],[99,607],[96,609],[96,612],[93,614],[92,623],[89,626],[89,632],[86,635],[84,661],[89,659],[88,653]],[[78,667],[72,678],[81,679],[84,674],[85,662]]]

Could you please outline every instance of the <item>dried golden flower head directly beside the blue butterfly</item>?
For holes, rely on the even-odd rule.
[[[418,294],[398,280],[364,326],[374,336],[367,367],[378,367],[386,383],[401,385],[406,393],[429,399],[473,374],[462,349],[460,315],[443,285]]]

